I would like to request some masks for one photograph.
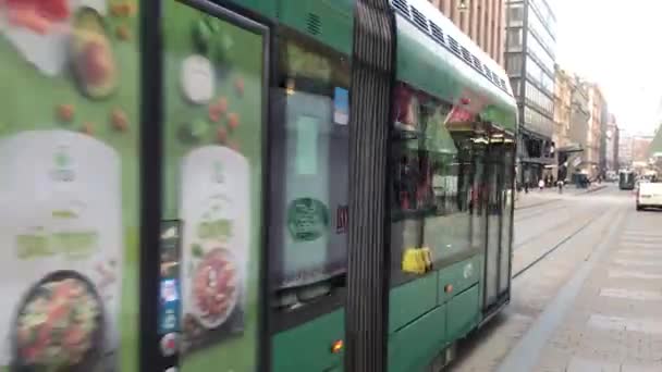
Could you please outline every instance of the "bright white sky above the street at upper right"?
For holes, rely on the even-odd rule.
[[[652,133],[662,102],[662,0],[548,0],[556,62],[598,83],[621,128]]]

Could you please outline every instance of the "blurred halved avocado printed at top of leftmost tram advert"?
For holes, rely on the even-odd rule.
[[[110,96],[118,82],[118,66],[103,18],[91,8],[82,8],[73,25],[71,46],[76,83],[93,99]]]

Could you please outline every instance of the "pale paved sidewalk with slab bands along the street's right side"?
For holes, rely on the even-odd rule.
[[[628,214],[606,238],[535,372],[662,371],[660,214]]]

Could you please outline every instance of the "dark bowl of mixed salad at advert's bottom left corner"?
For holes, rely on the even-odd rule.
[[[16,372],[93,372],[105,339],[103,307],[95,286],[74,271],[57,271],[19,302],[12,330]]]

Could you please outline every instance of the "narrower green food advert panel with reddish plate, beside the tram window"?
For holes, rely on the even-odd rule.
[[[183,371],[255,371],[263,38],[166,1],[164,219],[183,222]]]

